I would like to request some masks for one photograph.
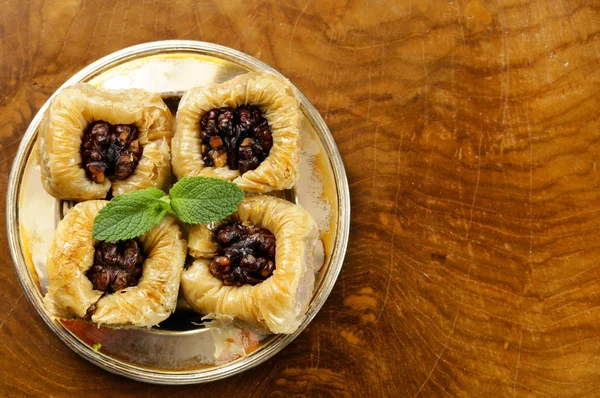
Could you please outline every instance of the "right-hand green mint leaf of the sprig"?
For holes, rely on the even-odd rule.
[[[171,209],[189,224],[219,221],[237,211],[244,192],[234,183],[207,177],[187,177],[171,191]]]

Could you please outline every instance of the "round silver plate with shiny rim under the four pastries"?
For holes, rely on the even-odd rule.
[[[139,87],[163,93],[172,100],[190,87],[222,82],[247,71],[281,76],[257,59],[227,47],[196,41],[161,41],[108,55],[81,70],[62,87],[78,82],[113,89]],[[291,335],[274,336],[220,328],[211,323],[197,324],[182,300],[170,322],[160,328],[98,328],[82,321],[50,318],[42,301],[47,288],[45,256],[69,204],[44,191],[33,151],[48,107],[46,102],[29,125],[15,157],[6,213],[17,276],[27,298],[50,329],[92,363],[132,379],[159,384],[201,383],[240,373],[271,358],[298,336],[333,288],[350,227],[350,195],[341,157],[317,110],[302,94],[300,102],[301,176],[292,191],[280,195],[302,204],[319,224],[322,267],[300,328]],[[97,344],[101,345],[99,350],[93,348]]]

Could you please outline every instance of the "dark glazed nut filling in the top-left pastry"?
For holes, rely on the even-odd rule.
[[[142,146],[132,124],[112,125],[99,120],[84,132],[81,143],[83,167],[97,183],[105,178],[124,180],[140,161]]]

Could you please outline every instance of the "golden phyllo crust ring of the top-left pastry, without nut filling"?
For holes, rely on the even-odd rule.
[[[37,145],[44,188],[57,199],[106,197],[111,182],[92,181],[82,167],[83,133],[96,120],[134,124],[139,131],[142,158],[129,178],[113,184],[118,186],[116,194],[150,186],[164,188],[171,174],[171,119],[160,96],[144,90],[110,91],[85,83],[61,90],[51,101],[39,130]],[[156,178],[148,179],[149,175]]]

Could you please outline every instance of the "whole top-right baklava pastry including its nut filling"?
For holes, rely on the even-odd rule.
[[[177,178],[223,178],[250,192],[291,188],[300,164],[295,89],[255,72],[192,88],[179,103],[172,157]]]

